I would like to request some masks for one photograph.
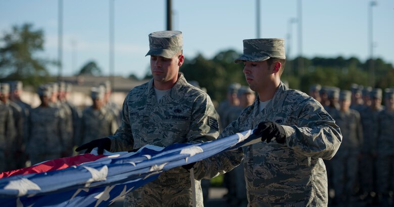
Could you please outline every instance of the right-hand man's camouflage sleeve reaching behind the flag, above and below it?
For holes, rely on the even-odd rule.
[[[239,132],[238,123],[239,119],[231,122],[220,134],[218,139],[227,137],[229,135]],[[194,170],[194,178],[211,179],[220,174],[224,174],[236,166],[238,166],[243,159],[243,152],[241,148],[236,150],[223,152],[215,156],[209,157],[205,160],[196,163],[195,167],[198,170]]]

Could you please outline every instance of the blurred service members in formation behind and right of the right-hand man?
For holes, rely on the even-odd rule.
[[[385,89],[383,98],[379,88],[353,84],[351,90],[340,90],[316,84],[309,95],[322,104],[343,135],[336,155],[324,161],[331,204],[388,203],[388,192],[394,187],[394,128],[390,127],[394,123],[394,89]],[[227,99],[217,109],[221,128],[235,120],[255,97],[248,86],[230,84]],[[237,179],[243,177],[240,166],[224,174],[226,200],[232,206],[244,206],[247,200],[244,180]]]

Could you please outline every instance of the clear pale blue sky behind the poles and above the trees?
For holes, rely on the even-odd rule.
[[[306,57],[355,56],[365,61],[368,46],[366,0],[303,0],[302,54]],[[201,53],[242,51],[242,40],[257,37],[255,0],[173,0],[173,30],[183,33],[185,58]],[[394,63],[394,1],[376,1],[373,11],[374,57]],[[115,75],[142,77],[149,68],[148,34],[166,29],[166,1],[115,0]],[[109,75],[109,0],[63,1],[63,75],[94,60]],[[260,0],[260,38],[285,38],[286,54],[300,54],[298,1]],[[58,1],[0,0],[0,34],[32,23],[45,35],[39,56],[58,59]],[[288,39],[290,34],[290,39]],[[73,46],[74,45],[74,46]],[[58,69],[50,72],[57,75]]]

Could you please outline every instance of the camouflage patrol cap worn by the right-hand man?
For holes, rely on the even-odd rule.
[[[234,60],[235,63],[244,61],[264,61],[269,58],[286,59],[284,39],[245,39],[243,40],[243,55]]]

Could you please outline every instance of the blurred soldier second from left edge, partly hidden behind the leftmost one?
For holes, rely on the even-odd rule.
[[[23,83],[21,81],[11,81],[10,82],[10,99],[12,102],[16,103],[22,109],[23,118],[23,137],[22,139],[16,140],[17,154],[16,154],[16,164],[17,169],[26,166],[27,155],[25,153],[26,142],[29,137],[29,116],[31,106],[21,100],[21,94],[23,92]]]

